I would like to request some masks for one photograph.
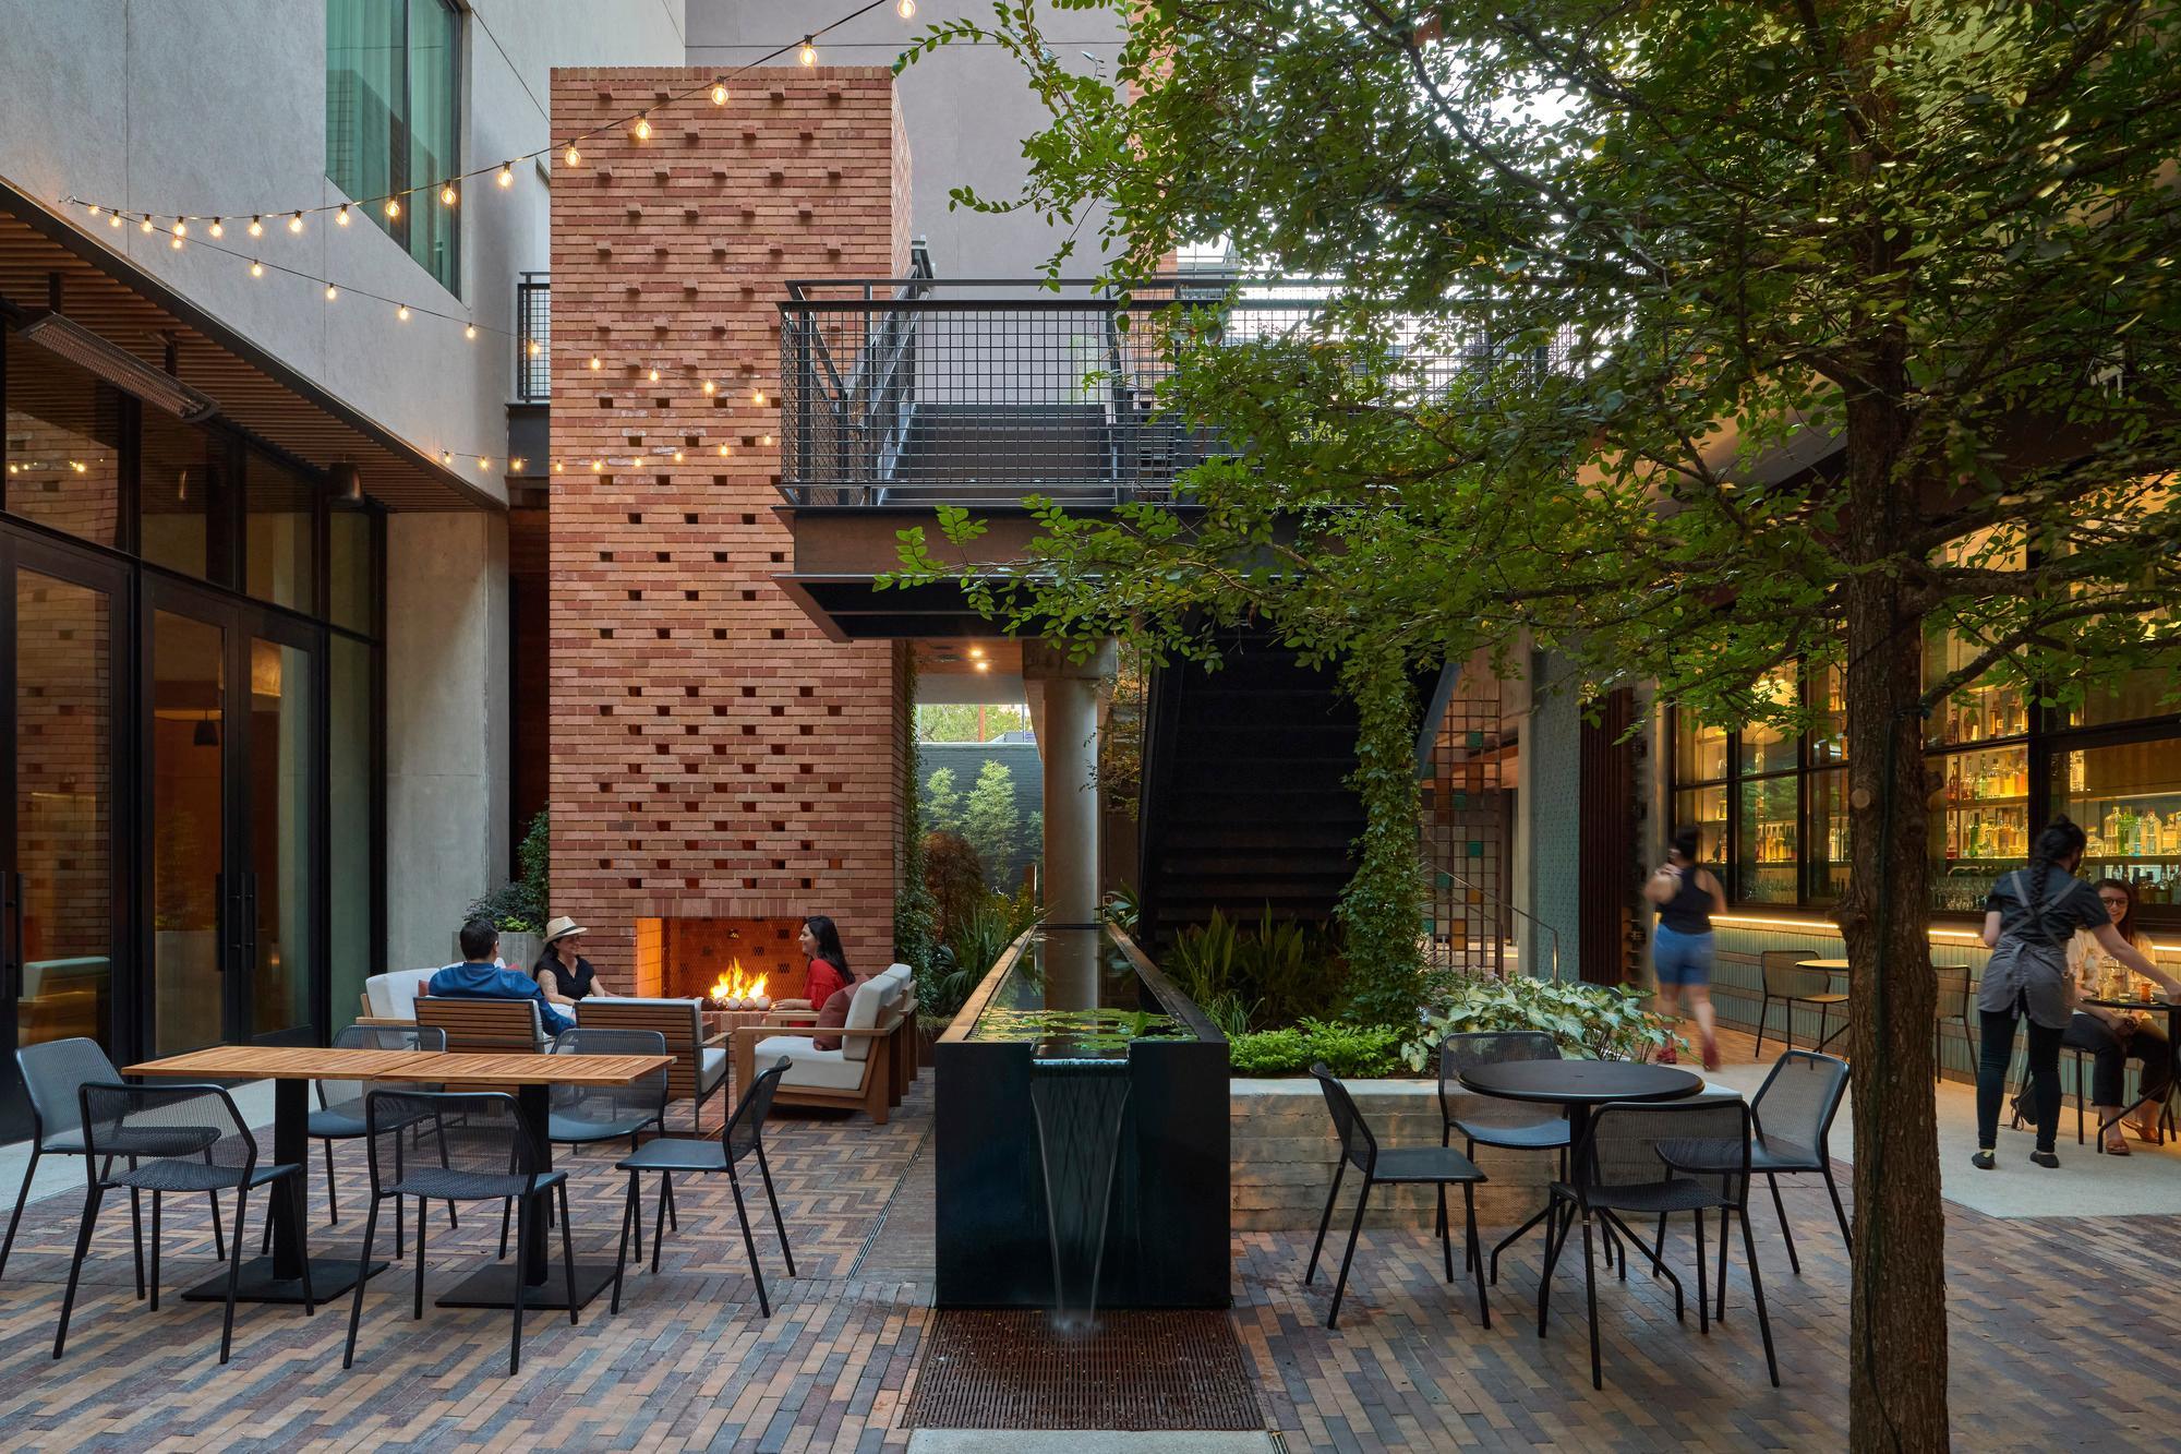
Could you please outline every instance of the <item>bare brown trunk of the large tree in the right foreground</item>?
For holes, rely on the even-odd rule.
[[[1893,480],[1904,424],[1873,389],[1849,402],[1849,550],[1884,559],[1913,504]],[[1902,397],[1891,391],[1891,397]],[[1921,616],[1884,570],[1852,576],[1847,784],[1854,871],[1847,939],[1854,1048],[1856,1255],[1849,1316],[1849,1447],[1948,1447],[1945,1214],[1932,1098],[1932,969]]]

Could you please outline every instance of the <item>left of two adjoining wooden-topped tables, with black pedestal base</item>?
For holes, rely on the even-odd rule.
[[[312,1046],[212,1046],[170,1054],[159,1061],[144,1061],[122,1070],[124,1076],[150,1076],[168,1081],[273,1081],[273,1155],[281,1166],[310,1164],[310,1083],[312,1081],[371,1081],[371,1078],[425,1078],[419,1074],[421,1061],[432,1059],[414,1050],[318,1050]],[[270,1192],[266,1216],[273,1218],[273,1255],[251,1258],[242,1264],[236,1297],[253,1303],[299,1303],[303,1301],[303,1260],[310,1258],[310,1290],[316,1301],[340,1297],[356,1286],[358,1262],[353,1258],[312,1258],[308,1240],[310,1216],[303,1207],[305,1177],[290,1177]],[[240,1236],[240,1233],[238,1233]],[[362,1275],[386,1271],[384,1262],[369,1262]],[[183,1297],[198,1303],[227,1301],[227,1277],[216,1275],[201,1282]]]

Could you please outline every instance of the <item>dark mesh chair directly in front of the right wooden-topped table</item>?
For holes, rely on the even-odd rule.
[[[530,1220],[543,1216],[534,1205],[550,1192],[561,1199],[561,1258],[567,1273],[567,1321],[576,1321],[576,1247],[567,1229],[567,1172],[545,1170],[545,1148],[523,1127],[515,1096],[504,1092],[390,1092],[375,1089],[364,1098],[371,1148],[371,1212],[364,1216],[362,1262],[371,1260],[371,1236],[377,1231],[379,1203],[388,1196],[417,1199],[417,1290],[412,1319],[423,1319],[423,1264],[427,1201],[513,1201],[517,1216],[517,1255],[528,1244]],[[438,1129],[441,1164],[412,1166],[401,1155],[401,1142],[412,1127],[432,1122]],[[356,1330],[364,1316],[364,1279],[356,1279],[356,1301],[349,1306],[349,1345],[340,1367],[356,1364]],[[515,1327],[508,1340],[508,1375],[523,1367],[523,1273],[515,1271]]]

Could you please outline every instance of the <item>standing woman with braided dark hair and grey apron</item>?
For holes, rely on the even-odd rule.
[[[2074,1011],[2068,974],[2068,941],[2089,930],[2098,948],[2129,969],[2170,985],[2157,967],[2113,930],[2098,891],[2074,875],[2083,862],[2083,830],[2065,817],[2037,834],[2031,865],[1991,886],[1985,902],[1985,948],[1991,961],[1976,993],[1980,1020],[1976,1063],[1976,1155],[1978,1170],[1998,1166],[2000,1100],[2007,1094],[2007,1061],[2015,1052],[2015,1020],[2028,1020],[2031,1105],[2037,1111],[2037,1151],[2031,1161],[2059,1166],[2052,1151],[2059,1131],[2059,1039]]]

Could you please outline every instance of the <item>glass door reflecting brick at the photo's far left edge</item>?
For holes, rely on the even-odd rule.
[[[15,1048],[116,1046],[124,570],[0,528],[0,1142],[31,1133]]]

